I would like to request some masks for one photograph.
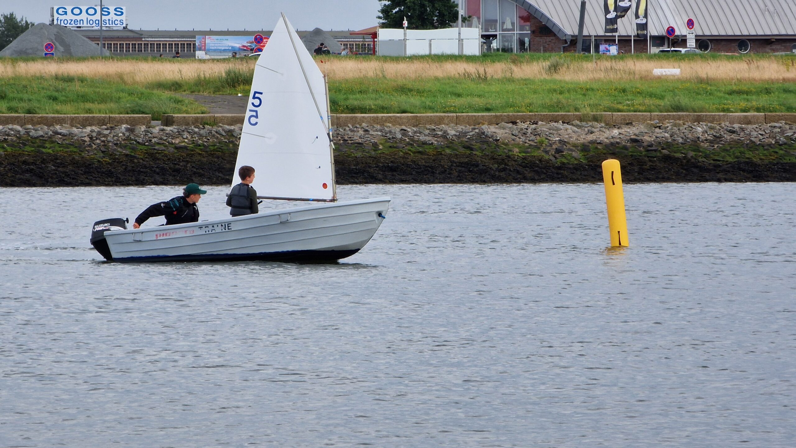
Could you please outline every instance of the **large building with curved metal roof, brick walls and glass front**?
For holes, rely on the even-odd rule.
[[[671,45],[685,48],[686,21],[694,21],[696,48],[708,53],[796,52],[794,0],[643,0],[648,8],[648,38],[636,38],[630,14],[618,19],[618,33],[605,32],[603,0],[587,0],[583,52],[602,42],[622,53],[655,53]],[[576,52],[578,0],[464,0],[465,14],[478,19],[484,52]],[[614,4],[615,2],[611,2]],[[675,35],[666,37],[672,26]]]

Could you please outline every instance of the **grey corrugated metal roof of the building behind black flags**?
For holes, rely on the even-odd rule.
[[[580,0],[512,0],[529,10],[562,39],[578,34]],[[635,7],[619,19],[619,35],[635,34]],[[671,25],[685,36],[685,21],[693,18],[697,36],[796,36],[796,0],[648,0],[650,35],[663,36]],[[605,36],[603,0],[586,2],[583,34]],[[613,34],[610,34],[613,36]]]

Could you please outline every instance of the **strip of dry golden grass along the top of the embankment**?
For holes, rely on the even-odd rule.
[[[646,80],[654,79],[654,68],[681,68],[681,80],[696,81],[771,81],[796,82],[793,58],[728,57],[728,58],[638,58],[599,57],[576,60],[568,56],[550,59],[489,61],[434,58],[325,58],[318,66],[334,80],[353,78],[386,78],[422,80],[429,78],[533,78],[571,81]],[[86,76],[113,80],[128,85],[141,85],[162,80],[191,80],[222,76],[228,68],[251,70],[255,60],[0,60],[0,77],[10,76]]]

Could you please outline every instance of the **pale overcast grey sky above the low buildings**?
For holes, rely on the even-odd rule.
[[[52,6],[93,6],[99,0],[0,0],[0,13],[13,12],[49,23]],[[103,0],[125,6],[131,29],[273,29],[283,12],[302,31],[365,29],[377,25],[378,0]]]

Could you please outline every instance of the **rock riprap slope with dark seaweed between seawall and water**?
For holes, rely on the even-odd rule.
[[[240,134],[240,126],[4,126],[0,184],[225,184]],[[599,181],[606,158],[622,162],[626,181],[796,181],[788,123],[367,125],[333,137],[340,183]]]

